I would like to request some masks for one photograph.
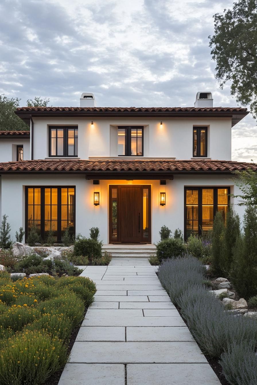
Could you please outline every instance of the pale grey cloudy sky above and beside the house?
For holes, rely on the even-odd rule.
[[[214,106],[236,107],[215,80],[208,35],[230,0],[2,0],[0,94],[76,106],[192,106],[210,90]],[[257,162],[248,115],[232,130],[232,159]]]

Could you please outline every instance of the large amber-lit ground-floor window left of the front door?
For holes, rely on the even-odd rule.
[[[32,226],[44,240],[50,230],[57,242],[75,234],[75,187],[26,187],[25,206],[25,239]]]

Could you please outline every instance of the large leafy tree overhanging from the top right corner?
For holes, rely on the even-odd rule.
[[[257,0],[239,0],[232,10],[216,13],[210,39],[216,79],[231,82],[231,95],[238,103],[250,105],[257,119]]]

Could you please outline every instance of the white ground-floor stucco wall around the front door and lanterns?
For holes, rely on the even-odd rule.
[[[159,241],[161,226],[166,225],[172,231],[184,229],[184,186],[224,186],[231,187],[231,193],[237,194],[237,187],[230,176],[174,176],[166,186],[159,181],[100,181],[93,185],[81,176],[38,176],[38,175],[2,175],[2,206],[0,212],[8,215],[12,228],[12,238],[20,226],[25,227],[25,186],[75,186],[76,187],[76,233],[89,235],[89,228],[97,226],[104,243],[109,241],[108,194],[110,184],[150,184],[152,186],[152,243]],[[93,192],[100,192],[100,205],[94,206]],[[160,206],[160,192],[166,192],[166,206]],[[1,196],[1,193],[0,193]],[[237,200],[231,199],[241,221],[244,208],[237,206]]]

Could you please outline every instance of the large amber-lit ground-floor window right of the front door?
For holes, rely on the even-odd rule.
[[[229,202],[230,187],[185,187],[185,239],[212,230],[217,211],[226,223]]]

